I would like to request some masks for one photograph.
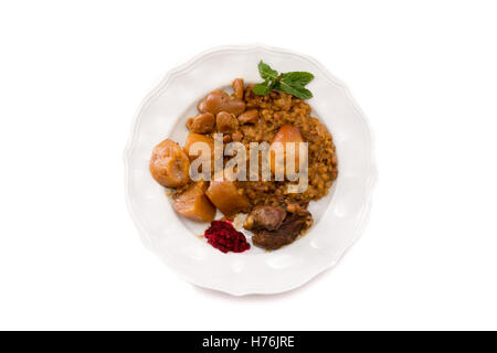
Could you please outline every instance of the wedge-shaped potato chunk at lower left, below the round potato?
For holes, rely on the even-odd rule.
[[[215,216],[215,207],[205,196],[205,183],[203,181],[191,185],[176,199],[175,211],[183,217],[195,222],[212,222]]]

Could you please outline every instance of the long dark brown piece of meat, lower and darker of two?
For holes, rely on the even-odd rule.
[[[255,246],[275,250],[293,243],[303,231],[313,224],[313,215],[307,210],[289,214],[275,231],[262,229],[252,237]]]

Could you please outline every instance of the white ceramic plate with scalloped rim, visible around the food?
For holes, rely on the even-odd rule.
[[[304,237],[271,253],[252,246],[223,254],[198,237],[205,224],[175,213],[148,162],[165,138],[184,142],[186,120],[209,92],[235,77],[260,82],[261,60],[279,72],[315,75],[307,86],[314,94],[308,103],[334,136],[339,174],[329,195],[310,203],[315,224]],[[146,246],[186,280],[235,296],[290,290],[332,267],[361,234],[376,175],[370,129],[345,85],[317,61],[265,45],[218,47],[170,71],[139,108],[125,168],[129,210]]]

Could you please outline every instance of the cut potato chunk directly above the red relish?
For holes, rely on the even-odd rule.
[[[250,207],[248,199],[244,194],[240,194],[235,181],[211,181],[209,189],[205,191],[209,200],[224,215],[231,216]]]

